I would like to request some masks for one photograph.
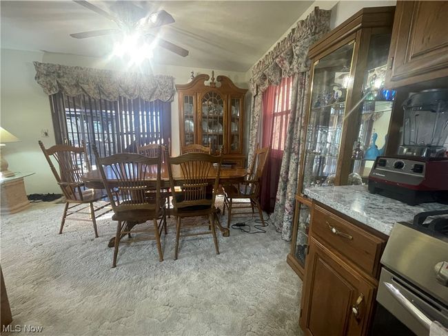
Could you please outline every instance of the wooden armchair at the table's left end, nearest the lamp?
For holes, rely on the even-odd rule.
[[[108,196],[103,190],[86,189],[81,176],[92,170],[90,161],[85,149],[85,143],[81,142],[81,147],[70,145],[54,145],[50,148],[45,148],[42,141],[39,140],[39,146],[42,149],[43,155],[50,165],[50,169],[56,178],[59,187],[61,187],[63,196],[65,196],[65,207],[61,220],[61,227],[59,234],[62,233],[65,220],[79,220],[93,223],[95,237],[98,238],[98,229],[96,228],[96,218],[109,212],[103,211],[95,216],[95,213],[110,204],[101,204],[100,207],[95,207],[94,202],[98,202],[107,198]],[[59,172],[54,167],[54,163],[59,165]],[[72,204],[70,206],[70,204]],[[84,205],[84,207],[83,207]],[[72,210],[75,209],[76,210]],[[89,212],[83,212],[84,209],[89,208]],[[68,218],[74,214],[89,215],[90,219],[85,218]]]

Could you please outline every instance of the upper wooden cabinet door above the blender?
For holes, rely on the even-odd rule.
[[[448,76],[448,1],[397,1],[386,87]]]

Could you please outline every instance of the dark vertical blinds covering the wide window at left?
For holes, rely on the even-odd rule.
[[[92,165],[92,145],[100,156],[135,152],[136,145],[167,145],[171,138],[171,103],[119,97],[94,99],[85,94],[50,96],[56,143],[85,142]]]

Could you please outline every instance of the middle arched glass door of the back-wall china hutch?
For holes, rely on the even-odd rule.
[[[216,151],[225,143],[224,102],[225,99],[214,91],[205,93],[201,99],[201,145],[211,146]]]

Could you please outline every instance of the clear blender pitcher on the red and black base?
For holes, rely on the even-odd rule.
[[[446,156],[448,90],[424,90],[403,103],[403,145],[398,155],[435,158]]]

